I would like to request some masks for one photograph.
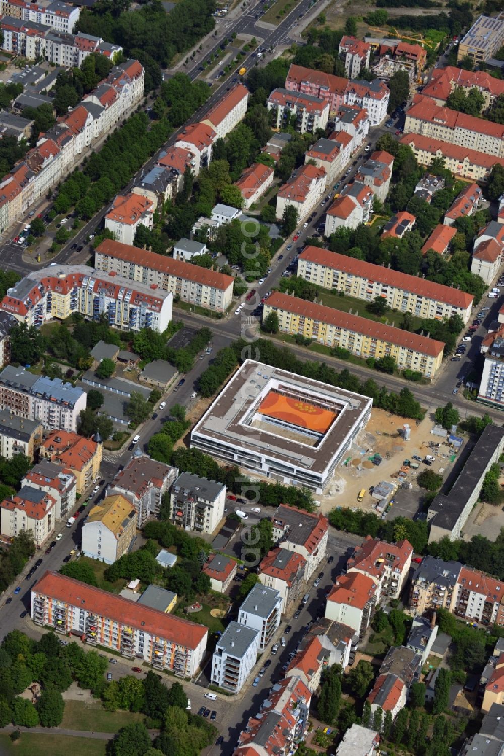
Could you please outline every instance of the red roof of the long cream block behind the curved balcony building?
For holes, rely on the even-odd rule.
[[[194,283],[202,283],[203,286],[221,291],[226,291],[234,283],[233,276],[200,268],[199,265],[174,260],[172,257],[158,255],[155,252],[147,252],[147,249],[138,249],[137,246],[130,246],[112,239],[104,239],[97,246],[97,252],[126,262],[135,262],[137,265],[143,265],[144,268],[151,268],[160,273],[184,278]]]

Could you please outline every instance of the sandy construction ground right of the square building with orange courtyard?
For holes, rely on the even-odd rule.
[[[373,409],[369,423],[357,437],[357,443],[354,443],[344,463],[335,469],[329,488],[323,495],[317,496],[320,500],[321,512],[329,512],[334,507],[360,507],[363,510],[373,510],[376,507],[376,500],[369,495],[370,486],[376,486],[382,480],[400,485],[400,479],[395,476],[405,459],[411,460],[413,454],[422,458],[425,454],[432,454],[428,448],[429,443],[437,443],[441,439],[431,434],[433,426],[431,418],[426,416],[418,426],[415,421],[410,421],[409,441],[404,441],[402,437],[403,424],[403,419],[397,415],[385,410]],[[447,451],[447,447],[441,446],[440,451],[443,449]],[[379,466],[369,461],[369,457],[373,457],[373,454],[379,454],[382,457],[382,463]],[[447,454],[441,451],[433,456],[437,459],[431,469],[441,474],[447,473],[449,470]],[[422,491],[416,485],[416,476],[422,472],[422,469],[425,469],[422,464],[417,470],[409,469],[406,477],[406,480],[413,483],[413,489],[418,491],[419,496]],[[357,503],[357,496],[362,488],[366,489],[366,496],[362,502]]]

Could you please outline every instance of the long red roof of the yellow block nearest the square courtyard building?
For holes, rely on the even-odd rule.
[[[371,339],[379,339],[404,349],[413,349],[431,357],[438,357],[444,349],[444,343],[441,341],[434,341],[434,339],[428,339],[426,336],[418,336],[416,333],[409,333],[400,328],[369,321],[367,318],[360,317],[360,315],[352,315],[325,305],[316,305],[314,302],[308,302],[306,299],[299,299],[297,296],[289,296],[279,291],[274,291],[267,298],[267,306],[293,312],[342,330],[362,333]]]

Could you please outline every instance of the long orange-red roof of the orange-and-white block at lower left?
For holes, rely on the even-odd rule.
[[[70,606],[84,607],[88,612],[95,612],[101,617],[119,621],[189,649],[195,649],[207,634],[207,628],[201,624],[165,614],[145,604],[138,606],[122,596],[66,578],[59,572],[46,572],[32,587],[32,591]]]

